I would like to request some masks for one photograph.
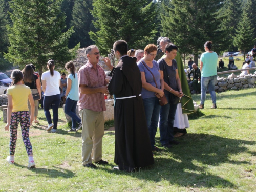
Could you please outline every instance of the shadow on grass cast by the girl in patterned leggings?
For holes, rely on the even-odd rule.
[[[17,167],[20,168],[27,168],[27,166],[20,165],[15,163],[14,164]],[[60,168],[60,167],[54,167],[54,169],[50,168],[33,168],[30,169],[32,172],[39,174],[40,177],[50,177],[50,178],[72,178],[75,176],[75,173],[71,172],[71,170]]]

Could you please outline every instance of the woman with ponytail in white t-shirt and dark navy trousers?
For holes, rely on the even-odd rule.
[[[55,65],[53,60],[49,60],[47,63],[49,71],[42,73],[42,91],[44,91],[44,111],[48,121],[48,127],[46,131],[56,133],[58,125],[58,109],[60,103],[60,74],[54,71]],[[53,112],[53,124],[50,114],[50,106],[52,105]]]

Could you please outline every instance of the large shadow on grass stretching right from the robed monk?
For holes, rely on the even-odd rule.
[[[255,141],[223,138],[209,134],[187,134],[178,139],[181,144],[154,153],[155,164],[153,166],[139,169],[133,173],[110,170],[103,166],[102,169],[116,175],[130,175],[156,183],[166,180],[172,185],[184,187],[193,187],[196,184],[196,187],[199,188],[237,189],[236,183],[223,178],[222,174],[226,174],[227,169],[222,164],[249,165],[251,163],[248,161],[231,160],[230,156],[244,152],[256,155],[246,147],[246,145],[256,144]],[[156,142],[159,142],[159,137],[156,138]],[[222,167],[224,170],[221,170]],[[212,174],[219,169],[219,176]]]

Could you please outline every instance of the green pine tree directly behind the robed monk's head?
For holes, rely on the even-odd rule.
[[[148,0],[95,0],[92,15],[98,31],[89,34],[103,54],[110,53],[116,40],[144,49],[157,33],[156,14],[156,4]]]

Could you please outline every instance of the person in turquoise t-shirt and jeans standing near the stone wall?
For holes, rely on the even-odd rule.
[[[211,109],[216,109],[216,93],[214,91],[215,84],[217,83],[217,63],[218,55],[212,49],[212,42],[207,41],[204,44],[205,52],[200,58],[200,71],[201,71],[201,101],[199,109],[204,109],[204,101],[206,98],[207,86],[212,99]]]

